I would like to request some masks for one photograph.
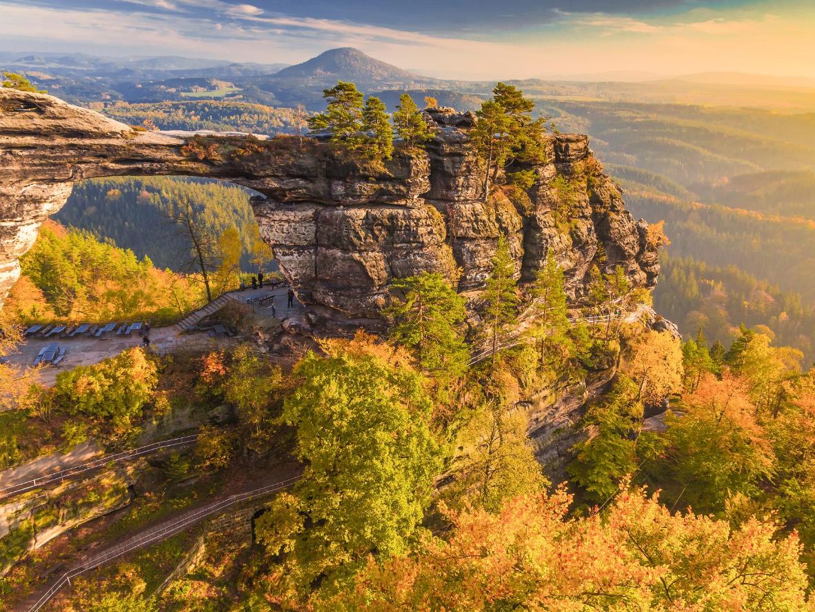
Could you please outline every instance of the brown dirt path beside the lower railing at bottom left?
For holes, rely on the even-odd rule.
[[[166,517],[155,525],[147,526],[134,534],[129,534],[108,543],[104,548],[83,550],[79,552],[78,558],[73,562],[60,562],[59,570],[62,571],[58,575],[55,575],[56,572],[53,570],[46,572],[46,575],[52,576],[49,582],[43,584],[41,588],[37,588],[24,600],[15,603],[12,610],[18,610],[19,612],[47,610],[51,598],[60,589],[69,587],[70,580],[74,577],[124,557],[130,552],[160,543],[175,534],[192,529],[192,527],[208,518],[229,511],[236,504],[249,499],[263,499],[284,490],[299,479],[301,472],[302,467],[298,463],[285,463],[272,472],[266,472],[262,481],[253,481],[251,485],[245,482],[241,483],[235,492],[224,491],[220,496],[209,499],[205,504]],[[235,482],[231,481],[231,484],[234,485]]]

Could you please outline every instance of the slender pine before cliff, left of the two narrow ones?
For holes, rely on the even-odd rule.
[[[504,236],[498,238],[498,247],[492,257],[492,270],[490,277],[487,278],[483,299],[487,304],[486,332],[492,345],[492,358],[495,360],[500,333],[518,322],[515,262],[509,253],[509,245]]]

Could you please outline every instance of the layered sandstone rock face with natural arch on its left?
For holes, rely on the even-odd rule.
[[[71,184],[111,175],[214,177],[262,193],[253,198],[261,235],[319,333],[381,330],[394,277],[441,272],[477,299],[500,234],[522,281],[552,251],[572,299],[593,262],[622,266],[632,286],[654,285],[647,224],[625,211],[586,136],[547,135],[548,162],[529,168],[535,184],[493,188],[484,202],[467,136],[474,115],[428,112],[438,129],[426,151],[397,147],[381,165],[318,140],[134,131],[49,95],[0,88],[0,298]]]

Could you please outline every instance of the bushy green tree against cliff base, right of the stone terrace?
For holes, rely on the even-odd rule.
[[[434,377],[463,375],[469,360],[464,297],[439,273],[400,278],[390,289],[396,296],[385,311],[393,319],[390,339],[414,351],[422,369]]]

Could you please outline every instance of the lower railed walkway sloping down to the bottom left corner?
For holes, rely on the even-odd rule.
[[[66,584],[70,585],[71,579],[76,578],[78,575],[84,574],[90,570],[95,570],[95,568],[99,567],[100,565],[104,565],[105,563],[108,563],[108,561],[113,561],[118,557],[126,555],[128,552],[133,552],[139,548],[148,546],[149,544],[158,543],[164,539],[170,538],[175,534],[179,534],[192,526],[196,526],[198,523],[200,523],[200,521],[204,521],[206,518],[214,517],[218,514],[226,512],[236,503],[245,502],[249,499],[265,497],[266,495],[286,489],[289,486],[292,486],[299,479],[300,476],[297,475],[275,482],[271,485],[258,487],[242,493],[236,493],[227,498],[209,503],[202,508],[195,508],[188,512],[184,512],[183,514],[178,515],[177,517],[174,517],[168,521],[164,521],[156,526],[143,530],[139,534],[126,539],[122,543],[105,548],[103,551],[97,552],[95,555],[83,559],[77,563],[77,565],[74,565],[70,570],[59,576],[59,578],[56,579],[55,582],[52,583],[51,586],[44,592],[34,593],[25,601],[20,602],[16,610],[29,610],[30,612],[41,610],[42,607],[46,605],[49,600],[51,600],[51,597],[55,596],[60,588],[63,588]]]

